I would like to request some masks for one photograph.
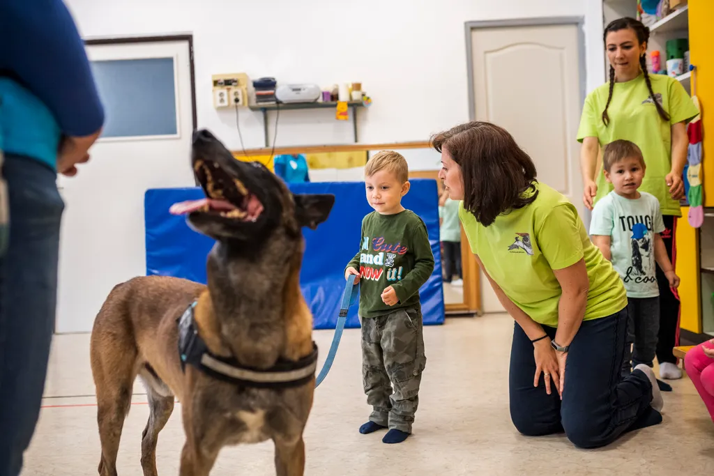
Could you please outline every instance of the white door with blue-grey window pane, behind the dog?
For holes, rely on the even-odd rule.
[[[117,283],[146,274],[144,193],[193,186],[189,44],[87,46],[106,121],[65,201],[56,331],[89,332]]]

